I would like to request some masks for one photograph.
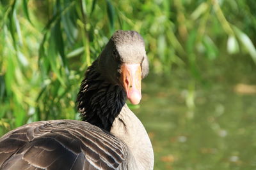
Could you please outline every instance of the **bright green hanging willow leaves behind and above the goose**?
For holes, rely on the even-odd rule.
[[[117,29],[140,32],[156,74],[180,67],[202,81],[200,60],[223,52],[256,63],[255,11],[250,0],[2,0],[0,133],[79,118],[79,82]]]

